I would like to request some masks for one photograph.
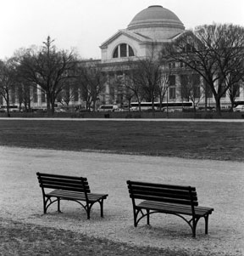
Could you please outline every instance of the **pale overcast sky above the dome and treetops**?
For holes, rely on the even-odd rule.
[[[42,45],[49,35],[58,49],[75,48],[81,58],[100,59],[99,46],[125,29],[150,5],[173,11],[186,26],[244,26],[244,0],[0,0],[0,59],[19,48]]]

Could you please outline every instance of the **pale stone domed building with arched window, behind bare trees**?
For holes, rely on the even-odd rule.
[[[185,32],[185,26],[176,14],[160,5],[153,5],[136,14],[126,29],[109,37],[100,46],[103,71],[108,77],[103,102],[119,105],[126,102],[125,90],[121,92],[116,83],[125,81],[126,72],[130,70],[128,60],[141,60],[152,56],[152,53],[158,56],[164,43],[172,42]],[[172,76],[169,100],[180,98],[179,79],[179,76]]]

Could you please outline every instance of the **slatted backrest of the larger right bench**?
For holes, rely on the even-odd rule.
[[[130,180],[127,180],[127,185],[133,204],[135,204],[135,199],[141,199],[191,205],[192,207],[198,205],[195,187]]]

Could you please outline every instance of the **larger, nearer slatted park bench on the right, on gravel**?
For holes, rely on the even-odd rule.
[[[205,234],[208,234],[208,215],[214,208],[198,206],[195,187],[130,180],[127,181],[127,185],[132,200],[135,227],[146,216],[149,225],[149,216],[152,213],[169,213],[184,219],[190,225],[193,237],[196,237],[198,220],[204,218]]]

